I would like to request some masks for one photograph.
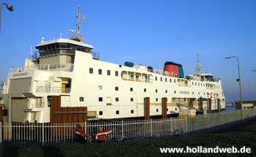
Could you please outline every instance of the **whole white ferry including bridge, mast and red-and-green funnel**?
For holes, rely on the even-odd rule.
[[[78,8],[79,34],[80,12]],[[171,61],[163,70],[128,61],[100,61],[99,54],[92,51],[94,47],[85,44],[81,36],[50,41],[42,38],[36,48],[38,52],[33,59],[26,59],[23,68],[10,70],[4,85],[4,110],[11,110],[15,122],[48,123],[53,122],[54,115],[68,121],[68,116],[76,115],[88,119],[140,118],[225,108],[222,82],[213,74],[185,76],[182,65]]]

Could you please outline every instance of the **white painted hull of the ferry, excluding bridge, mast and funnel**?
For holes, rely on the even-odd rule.
[[[16,121],[50,122],[50,107],[54,104],[49,105],[49,96],[60,96],[61,107],[87,107],[93,118],[103,119],[144,117],[145,97],[150,97],[150,116],[162,115],[161,99],[164,97],[167,98],[167,115],[188,109],[191,99],[191,107],[200,109],[200,97],[204,99],[202,109],[225,108],[221,80],[207,82],[169,77],[147,72],[146,66],[128,67],[99,61],[93,59],[92,54],[80,51],[76,51],[73,66],[12,71],[8,75],[7,91],[27,97],[26,118]],[[16,82],[21,83],[20,87],[12,86]],[[67,83],[70,83],[68,88]],[[206,86],[207,83],[214,88]]]

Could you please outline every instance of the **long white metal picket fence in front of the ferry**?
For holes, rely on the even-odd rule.
[[[202,134],[256,118],[256,108],[197,115],[195,118],[150,120],[93,120],[84,122],[84,131],[95,135],[99,127],[114,129],[106,140],[159,138],[173,134]],[[77,123],[0,123],[0,143],[73,142]]]

